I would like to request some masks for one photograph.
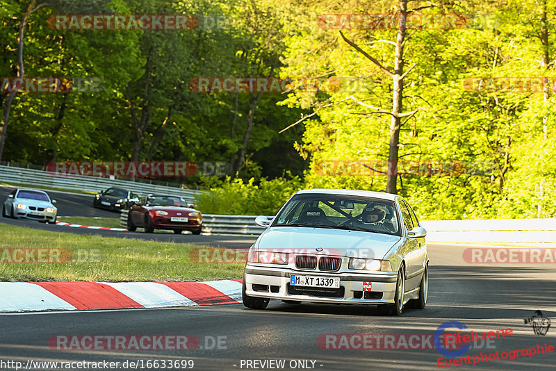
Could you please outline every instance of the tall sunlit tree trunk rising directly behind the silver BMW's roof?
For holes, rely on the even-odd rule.
[[[398,144],[400,143],[400,114],[403,106],[404,92],[404,41],[407,19],[407,0],[400,1],[400,22],[398,24],[398,37],[395,42],[395,60],[392,97],[392,118],[390,122],[390,143],[388,153],[388,174],[386,175],[386,192],[396,194],[398,188]]]

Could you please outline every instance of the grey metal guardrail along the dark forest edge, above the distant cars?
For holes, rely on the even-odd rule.
[[[188,201],[193,201],[195,195],[201,193],[199,190],[186,190],[183,188],[159,186],[135,181],[101,178],[99,176],[53,176],[43,170],[24,169],[22,167],[4,165],[0,165],[0,181],[6,183],[23,183],[38,187],[85,190],[90,192],[99,192],[106,188],[117,187],[131,190],[138,193],[138,195],[170,193],[172,195],[186,197]]]

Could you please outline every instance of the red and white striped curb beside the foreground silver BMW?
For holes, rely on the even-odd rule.
[[[241,303],[241,279],[206,282],[0,282],[0,312]]]

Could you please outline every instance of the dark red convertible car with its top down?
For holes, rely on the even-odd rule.
[[[179,196],[148,195],[145,204],[136,202],[127,216],[128,231],[142,227],[147,233],[155,229],[170,229],[174,233],[191,231],[200,234],[202,224],[201,213],[193,205],[187,206],[186,201]]]

